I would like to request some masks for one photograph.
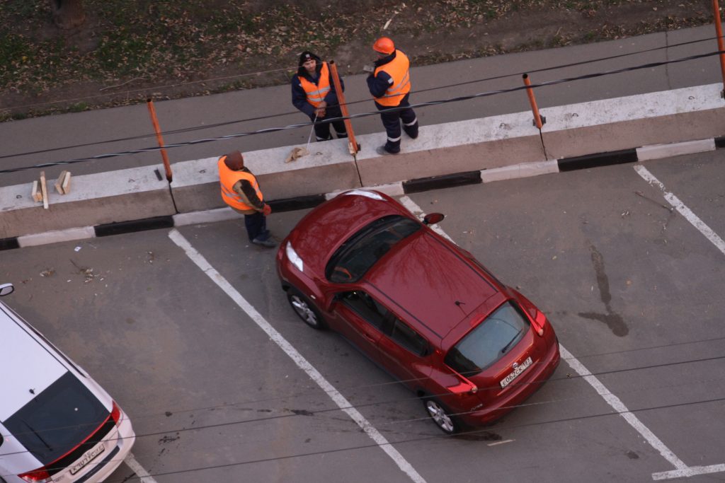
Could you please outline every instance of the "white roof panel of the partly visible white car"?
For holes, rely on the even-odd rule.
[[[67,372],[54,353],[28,331],[0,302],[0,421]]]

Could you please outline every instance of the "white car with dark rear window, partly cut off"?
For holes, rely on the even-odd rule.
[[[107,392],[0,302],[0,483],[101,482],[134,440]]]

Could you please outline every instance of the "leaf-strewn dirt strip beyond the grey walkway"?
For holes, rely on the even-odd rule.
[[[196,1],[199,2],[204,3]],[[711,0],[426,0],[409,4],[350,1],[338,2],[339,5],[318,0],[292,1],[291,7],[285,6],[289,3],[242,2],[238,12],[256,15],[254,20],[264,19],[267,23],[249,24],[252,30],[248,29],[246,34],[239,30],[236,46],[231,45],[236,39],[233,32],[223,37],[202,35],[202,41],[211,44],[211,50],[207,50],[210,53],[202,59],[205,62],[196,59],[186,64],[177,57],[168,57],[165,69],[154,68],[149,62],[147,69],[136,67],[136,73],[107,70],[98,74],[84,72],[83,69],[91,70],[91,64],[82,62],[73,67],[76,72],[68,67],[67,60],[63,61],[67,65],[61,62],[49,75],[37,75],[35,79],[22,72],[42,72],[42,66],[35,71],[18,69],[16,77],[9,75],[0,83],[0,120],[133,104],[149,97],[203,96],[287,83],[297,68],[299,51],[307,48],[323,59],[335,60],[343,75],[357,74],[363,71],[363,65],[371,63],[370,45],[378,35],[393,38],[414,65],[422,65],[713,22]],[[215,8],[215,4],[225,2],[206,0],[204,7]],[[148,8],[150,12],[152,7]],[[75,31],[58,30],[41,14],[36,12],[35,17],[20,22],[18,28],[25,31],[25,38],[38,45],[60,38],[79,57],[96,54],[107,36],[113,35],[108,33],[107,18],[94,10],[91,0],[86,1],[86,22]],[[330,19],[338,20],[335,29],[314,25],[310,19],[316,16],[323,16],[325,25],[331,25]],[[308,28],[299,25],[300,18],[302,24],[310,24]],[[194,25],[193,20],[186,25],[188,30],[188,25]],[[327,30],[331,31],[329,37],[320,33]],[[100,39],[99,32],[104,35]],[[156,40],[147,38],[146,42]],[[213,45],[214,42],[219,45]],[[48,62],[43,61],[43,56],[37,58],[37,62]],[[2,62],[7,64],[2,66]],[[0,67],[10,72],[17,66],[0,59]],[[22,79],[23,75],[28,78]]]

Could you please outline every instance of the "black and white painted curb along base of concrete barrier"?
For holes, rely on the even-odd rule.
[[[379,190],[389,194],[390,196],[401,196],[410,193],[421,193],[428,190],[454,188],[456,186],[463,185],[477,185],[483,182],[512,180],[521,177],[545,175],[555,172],[568,172],[576,169],[590,169],[610,166],[613,164],[650,161],[653,159],[662,159],[671,156],[680,156],[683,154],[714,151],[720,148],[725,148],[725,136],[704,140],[686,141],[684,143],[643,146],[641,148],[624,149],[622,151],[587,154],[586,156],[563,158],[555,161],[540,161],[501,168],[484,169],[481,171],[418,178],[415,180],[395,182],[389,185],[373,186],[366,189]],[[330,198],[334,198],[334,196],[338,193],[341,192],[270,201],[270,206],[272,207],[272,211],[277,213],[281,211],[308,209],[318,206],[320,203],[323,203]],[[239,214],[236,214],[235,211],[224,207],[207,211],[194,211],[191,213],[137,219],[128,222],[97,224],[92,227],[70,228],[68,230],[57,230],[34,235],[22,235],[19,237],[0,239],[0,251],[10,250],[12,248],[46,245],[48,243],[57,243],[62,241],[121,235],[123,233],[141,232],[144,230],[156,230],[158,228],[181,227],[188,224],[220,222],[228,219],[239,219]]]

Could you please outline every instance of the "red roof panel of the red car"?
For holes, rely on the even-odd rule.
[[[365,282],[413,328],[441,340],[463,321],[488,315],[486,301],[500,295],[494,280],[427,227],[396,245]]]

